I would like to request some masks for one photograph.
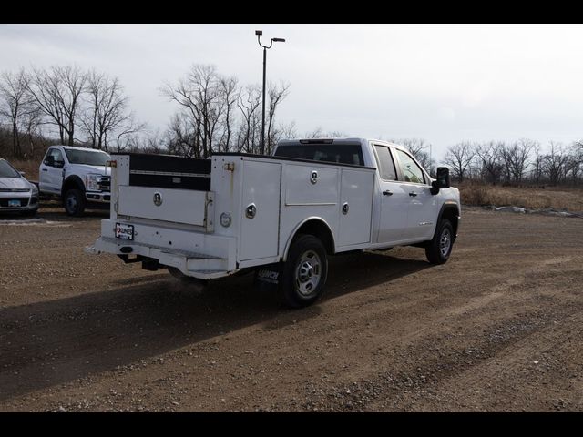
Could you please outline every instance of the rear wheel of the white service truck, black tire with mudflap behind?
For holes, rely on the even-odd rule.
[[[328,259],[322,241],[312,235],[297,237],[283,266],[283,303],[292,308],[311,305],[322,296],[327,276]]]

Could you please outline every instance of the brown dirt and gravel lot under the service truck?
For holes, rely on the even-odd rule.
[[[583,219],[465,208],[445,265],[339,257],[286,310],[84,254],[103,213],[39,217],[0,222],[0,411],[583,410]]]

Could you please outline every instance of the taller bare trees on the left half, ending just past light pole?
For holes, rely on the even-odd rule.
[[[275,120],[289,88],[271,83],[266,93],[266,153],[281,137],[296,135],[293,123]],[[51,144],[195,158],[207,158],[213,151],[260,152],[259,85],[241,86],[215,66],[195,65],[159,92],[178,107],[163,132],[138,122],[116,76],[77,66],[2,72],[0,155],[36,159]]]

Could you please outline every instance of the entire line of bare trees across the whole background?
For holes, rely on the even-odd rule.
[[[299,137],[293,122],[276,122],[290,85],[269,84],[265,108],[265,153],[281,138]],[[159,87],[177,110],[168,127],[148,130],[130,110],[118,77],[77,66],[5,71],[0,74],[0,156],[39,159],[52,144],[106,151],[146,151],[192,158],[213,152],[261,152],[261,86],[241,85],[215,66],[194,65],[185,76]],[[302,137],[347,137],[317,127]],[[393,140],[407,147],[434,174],[431,145],[420,138]],[[441,163],[453,178],[491,184],[525,182],[580,184],[583,141],[460,142],[447,147]]]

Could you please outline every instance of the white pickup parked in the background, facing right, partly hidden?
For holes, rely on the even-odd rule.
[[[38,188],[44,196],[61,198],[69,216],[86,207],[108,207],[111,157],[87,147],[51,146],[38,169]]]

